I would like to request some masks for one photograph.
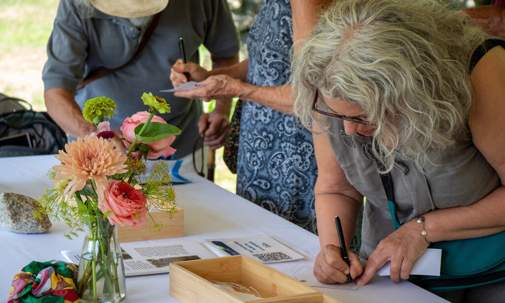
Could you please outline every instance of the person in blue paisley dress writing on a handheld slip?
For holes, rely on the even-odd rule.
[[[237,154],[237,194],[316,233],[317,178],[312,134],[291,115],[290,51],[309,35],[318,12],[330,1],[265,0],[247,38],[249,59],[207,71],[194,63],[172,67],[175,87],[184,72],[206,85],[176,92],[206,101],[243,100]]]

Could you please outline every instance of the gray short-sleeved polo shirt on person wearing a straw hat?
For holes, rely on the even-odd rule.
[[[199,136],[197,121],[202,113],[199,100],[176,98],[160,92],[172,88],[170,69],[179,59],[179,37],[184,38],[187,60],[198,62],[198,46],[204,44],[213,57],[237,54],[239,40],[226,0],[171,0],[162,12],[155,32],[144,49],[127,66],[76,91],[77,84],[99,67],[117,68],[128,62],[141,41],[143,31],[128,19],[94,10],[83,17],[72,0],[61,0],[54,29],[47,43],[47,62],[42,71],[44,89],[66,88],[76,94],[81,107],[87,99],[107,96],[117,104],[111,128],[124,119],[146,111],[140,96],[152,92],[167,100],[171,113],[160,115],[182,130],[172,147],[174,158],[191,153]]]

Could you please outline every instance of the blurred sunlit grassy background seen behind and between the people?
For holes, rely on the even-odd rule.
[[[179,0],[184,1],[184,0]],[[449,0],[450,1],[450,0]],[[491,0],[463,0],[466,7],[490,4]],[[35,111],[45,111],[42,67],[45,44],[53,28],[59,0],[0,1],[0,93],[27,100]],[[247,58],[245,41],[263,0],[228,0],[240,32],[240,60]],[[200,64],[210,69],[210,56],[200,47]],[[204,103],[206,110],[213,104]],[[223,148],[216,152],[215,183],[235,192],[236,175],[223,162]]]

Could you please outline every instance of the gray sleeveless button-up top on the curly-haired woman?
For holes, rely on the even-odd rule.
[[[379,241],[394,230],[372,139],[346,135],[338,119],[332,119],[330,133],[331,148],[347,180],[366,196],[360,254],[368,258]],[[433,164],[427,161],[424,174],[413,163],[401,160],[390,172],[401,224],[431,210],[470,205],[499,186],[497,173],[473,144],[468,128],[454,146],[430,159]]]

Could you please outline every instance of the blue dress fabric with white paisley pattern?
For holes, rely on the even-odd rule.
[[[266,0],[249,31],[247,83],[285,84],[293,44],[289,0]],[[290,115],[244,101],[237,194],[316,233],[317,177],[312,134]]]

